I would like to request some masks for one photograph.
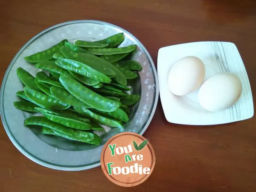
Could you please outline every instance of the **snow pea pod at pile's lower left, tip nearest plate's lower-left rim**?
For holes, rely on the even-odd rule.
[[[50,128],[52,130],[60,131],[61,133],[70,136],[74,134],[74,130],[72,128],[66,127],[59,123],[52,122],[44,116],[31,116],[28,119],[25,119],[24,125],[40,125],[43,127]]]

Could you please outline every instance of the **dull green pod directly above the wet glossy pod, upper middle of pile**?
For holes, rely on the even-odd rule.
[[[91,60],[90,58],[96,57],[94,55],[90,55],[90,54],[84,55],[84,53],[76,53],[72,49],[69,49],[65,46],[61,47],[61,52],[68,59],[79,61],[79,62],[81,62],[81,63],[93,68],[94,70],[107,75],[107,76],[116,75],[116,73],[113,70],[111,70],[110,68],[108,68],[107,66],[102,66],[100,63],[92,62],[93,60]]]

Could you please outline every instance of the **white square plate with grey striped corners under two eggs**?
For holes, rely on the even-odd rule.
[[[216,73],[233,73],[242,83],[242,93],[232,107],[206,111],[198,102],[198,90],[186,96],[175,96],[168,87],[172,65],[186,56],[196,56],[205,64],[205,79]],[[250,82],[236,45],[229,42],[194,42],[163,47],[158,51],[157,73],[160,99],[167,121],[184,125],[215,125],[249,119],[253,116]],[[205,80],[204,79],[204,80]]]

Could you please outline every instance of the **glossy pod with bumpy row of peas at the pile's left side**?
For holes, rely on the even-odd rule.
[[[30,89],[28,87],[24,88],[24,93],[26,96],[35,104],[43,107],[43,108],[52,108],[52,109],[67,109],[70,105],[64,104],[60,102],[58,99],[55,99],[51,96],[48,96],[44,93],[40,93],[39,91]]]

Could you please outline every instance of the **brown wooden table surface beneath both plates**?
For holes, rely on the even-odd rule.
[[[34,35],[68,20],[103,20],[135,35],[155,65],[160,47],[192,41],[234,42],[256,96],[255,0],[1,0],[0,81]],[[12,145],[0,125],[1,192],[256,191],[256,118],[216,126],[166,121],[159,100],[144,134],[156,166],[143,184],[111,183],[100,167],[63,172],[40,166]]]

